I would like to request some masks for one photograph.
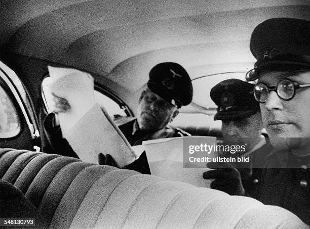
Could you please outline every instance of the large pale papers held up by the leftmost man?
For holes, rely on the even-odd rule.
[[[64,138],[83,161],[98,163],[98,154],[110,154],[119,167],[135,160],[135,153],[121,130],[94,99],[94,80],[88,73],[49,66],[50,90],[66,99],[71,109],[59,113]]]

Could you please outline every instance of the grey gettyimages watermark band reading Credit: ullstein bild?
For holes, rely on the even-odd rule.
[[[183,139],[183,167],[205,168],[208,162],[228,162],[239,168],[299,168],[310,166],[308,138],[215,138]]]

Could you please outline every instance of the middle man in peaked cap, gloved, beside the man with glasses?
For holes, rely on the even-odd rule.
[[[218,106],[214,120],[222,121],[223,145],[245,145],[246,151],[243,156],[249,156],[251,160],[251,164],[239,170],[233,166],[222,168],[225,167],[223,164],[211,165],[213,168],[220,169],[203,174],[206,179],[215,178],[211,183],[212,189],[218,189],[230,195],[243,195],[246,190],[247,194],[255,196],[261,167],[270,151],[270,144],[261,136],[262,120],[259,103],[253,96],[253,87],[253,84],[240,79],[227,79],[215,85],[210,91],[211,99]],[[236,182],[231,185],[231,180]]]

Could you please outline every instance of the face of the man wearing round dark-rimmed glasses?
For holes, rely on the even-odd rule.
[[[288,78],[300,84],[310,82],[310,71],[299,73],[264,72],[259,82],[267,86],[277,86],[279,80]],[[279,98],[271,91],[264,104],[260,104],[263,125],[270,141],[277,138],[310,138],[310,88],[300,88],[289,101]]]

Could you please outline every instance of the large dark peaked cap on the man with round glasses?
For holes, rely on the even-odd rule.
[[[260,70],[310,70],[310,21],[272,18],[257,25],[250,50],[257,59],[247,80],[259,78]]]

